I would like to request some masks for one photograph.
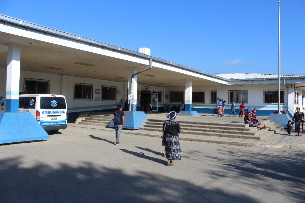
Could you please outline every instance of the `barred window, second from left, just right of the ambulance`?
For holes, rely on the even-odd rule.
[[[92,84],[74,82],[73,100],[92,100]]]

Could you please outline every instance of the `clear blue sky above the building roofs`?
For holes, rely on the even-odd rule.
[[[278,74],[278,1],[19,1],[0,13],[209,73]],[[281,71],[305,75],[305,1],[281,1]]]

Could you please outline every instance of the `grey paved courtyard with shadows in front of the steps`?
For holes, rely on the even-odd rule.
[[[304,150],[181,141],[70,127],[0,146],[0,202],[304,202]]]

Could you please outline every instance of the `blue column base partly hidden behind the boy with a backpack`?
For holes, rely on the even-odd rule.
[[[143,111],[124,111],[124,128],[127,129],[139,129],[145,121],[147,121],[148,116]],[[114,128],[114,123],[111,121],[108,127]]]

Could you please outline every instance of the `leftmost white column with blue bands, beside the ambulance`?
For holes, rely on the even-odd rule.
[[[6,112],[18,112],[20,53],[20,44],[9,44],[6,69]]]

